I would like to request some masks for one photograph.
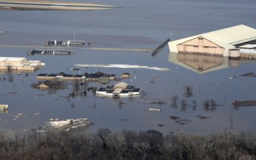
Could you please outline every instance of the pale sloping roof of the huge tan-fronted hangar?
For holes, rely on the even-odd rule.
[[[230,28],[220,29],[217,31],[211,31],[209,33],[202,33],[200,35],[190,36],[188,38],[182,38],[168,42],[171,52],[178,52],[177,45],[182,42],[186,42],[198,36],[202,36],[207,40],[210,40],[214,44],[220,45],[225,49],[223,56],[228,56],[228,49],[234,49],[236,44],[248,42],[256,39],[256,29],[244,26],[243,24],[233,26]]]

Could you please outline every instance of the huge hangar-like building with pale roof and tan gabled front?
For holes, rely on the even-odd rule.
[[[168,42],[170,52],[214,56],[232,56],[229,50],[236,48],[240,49],[241,54],[256,54],[255,44],[256,29],[243,24]],[[249,47],[249,52],[244,47]]]

